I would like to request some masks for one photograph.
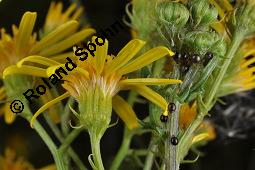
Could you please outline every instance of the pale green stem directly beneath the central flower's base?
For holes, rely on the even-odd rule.
[[[100,151],[100,140],[101,137],[95,135],[95,133],[89,133],[90,135],[90,144],[93,155],[93,162],[97,168],[97,170],[104,170],[104,165],[101,157]]]

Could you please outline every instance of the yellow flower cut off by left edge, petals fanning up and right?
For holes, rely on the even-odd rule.
[[[36,34],[32,33],[36,21],[36,15],[37,14],[35,12],[26,12],[21,19],[19,28],[14,25],[12,26],[13,36],[7,34],[4,29],[1,29],[1,77],[5,68],[16,64],[19,60],[30,55],[43,55],[49,58],[52,57],[56,60],[62,56],[69,56],[72,53],[65,52],[65,50],[95,33],[94,29],[84,29],[77,32],[78,22],[73,20],[62,24],[50,32],[47,36],[43,37],[40,41],[37,41]],[[37,73],[38,70],[41,70],[29,65],[23,67],[22,71],[26,73],[30,71],[31,68],[36,69]],[[11,66],[9,69],[13,72],[20,72],[20,68],[16,66]],[[41,73],[37,76],[41,76]],[[1,101],[7,100],[5,90],[6,89],[4,87],[0,88]],[[4,107],[5,109],[1,108],[1,113],[3,114],[4,112],[7,123],[13,122],[15,118],[15,114],[10,111],[9,107],[10,103],[7,103]]]

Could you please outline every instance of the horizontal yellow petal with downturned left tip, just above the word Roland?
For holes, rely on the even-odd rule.
[[[11,74],[25,74],[25,75],[46,77],[46,78],[48,77],[45,69],[37,68],[33,66],[22,66],[21,68],[17,67],[16,65],[9,66],[4,70],[3,78]]]

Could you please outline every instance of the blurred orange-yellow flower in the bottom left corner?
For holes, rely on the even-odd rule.
[[[5,149],[4,156],[0,155],[1,170],[35,170],[35,168],[22,157],[17,157],[11,149]],[[55,165],[49,165],[39,170],[56,170]]]

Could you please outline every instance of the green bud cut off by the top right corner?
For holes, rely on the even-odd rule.
[[[232,34],[250,36],[255,33],[255,2],[248,0],[237,8],[230,19],[230,31]]]

